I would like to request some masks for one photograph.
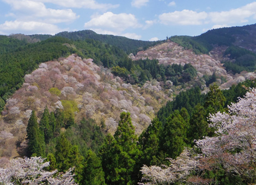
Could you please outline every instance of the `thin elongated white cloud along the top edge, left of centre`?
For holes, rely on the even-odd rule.
[[[5,0],[7,1],[7,0]],[[35,0],[43,3],[53,3],[66,8],[86,8],[108,10],[119,7],[119,4],[97,3],[94,0]]]

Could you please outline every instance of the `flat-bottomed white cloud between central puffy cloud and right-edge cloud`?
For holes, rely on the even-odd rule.
[[[197,13],[192,10],[174,11],[173,13],[164,13],[159,15],[160,22],[165,25],[200,25],[207,18],[208,14]]]

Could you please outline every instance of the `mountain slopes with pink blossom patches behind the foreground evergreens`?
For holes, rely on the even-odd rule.
[[[69,114],[75,122],[88,118],[100,125],[105,121],[110,133],[120,112],[128,111],[139,134],[161,106],[182,90],[200,87],[207,92],[212,83],[228,89],[256,78],[255,30],[255,25],[221,28],[162,42],[90,30],[1,36],[1,129],[23,142],[31,110],[40,120],[46,106],[55,111],[62,102],[72,105]],[[128,58],[125,52],[138,47],[145,50]],[[245,64],[247,58],[252,61]],[[230,64],[245,71],[234,73]]]

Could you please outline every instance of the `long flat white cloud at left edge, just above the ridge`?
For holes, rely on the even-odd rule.
[[[0,24],[0,30],[7,33],[25,33],[25,34],[56,34],[62,32],[62,29],[59,29],[54,24],[49,24],[45,22],[35,22],[35,21],[5,21],[3,24]]]

